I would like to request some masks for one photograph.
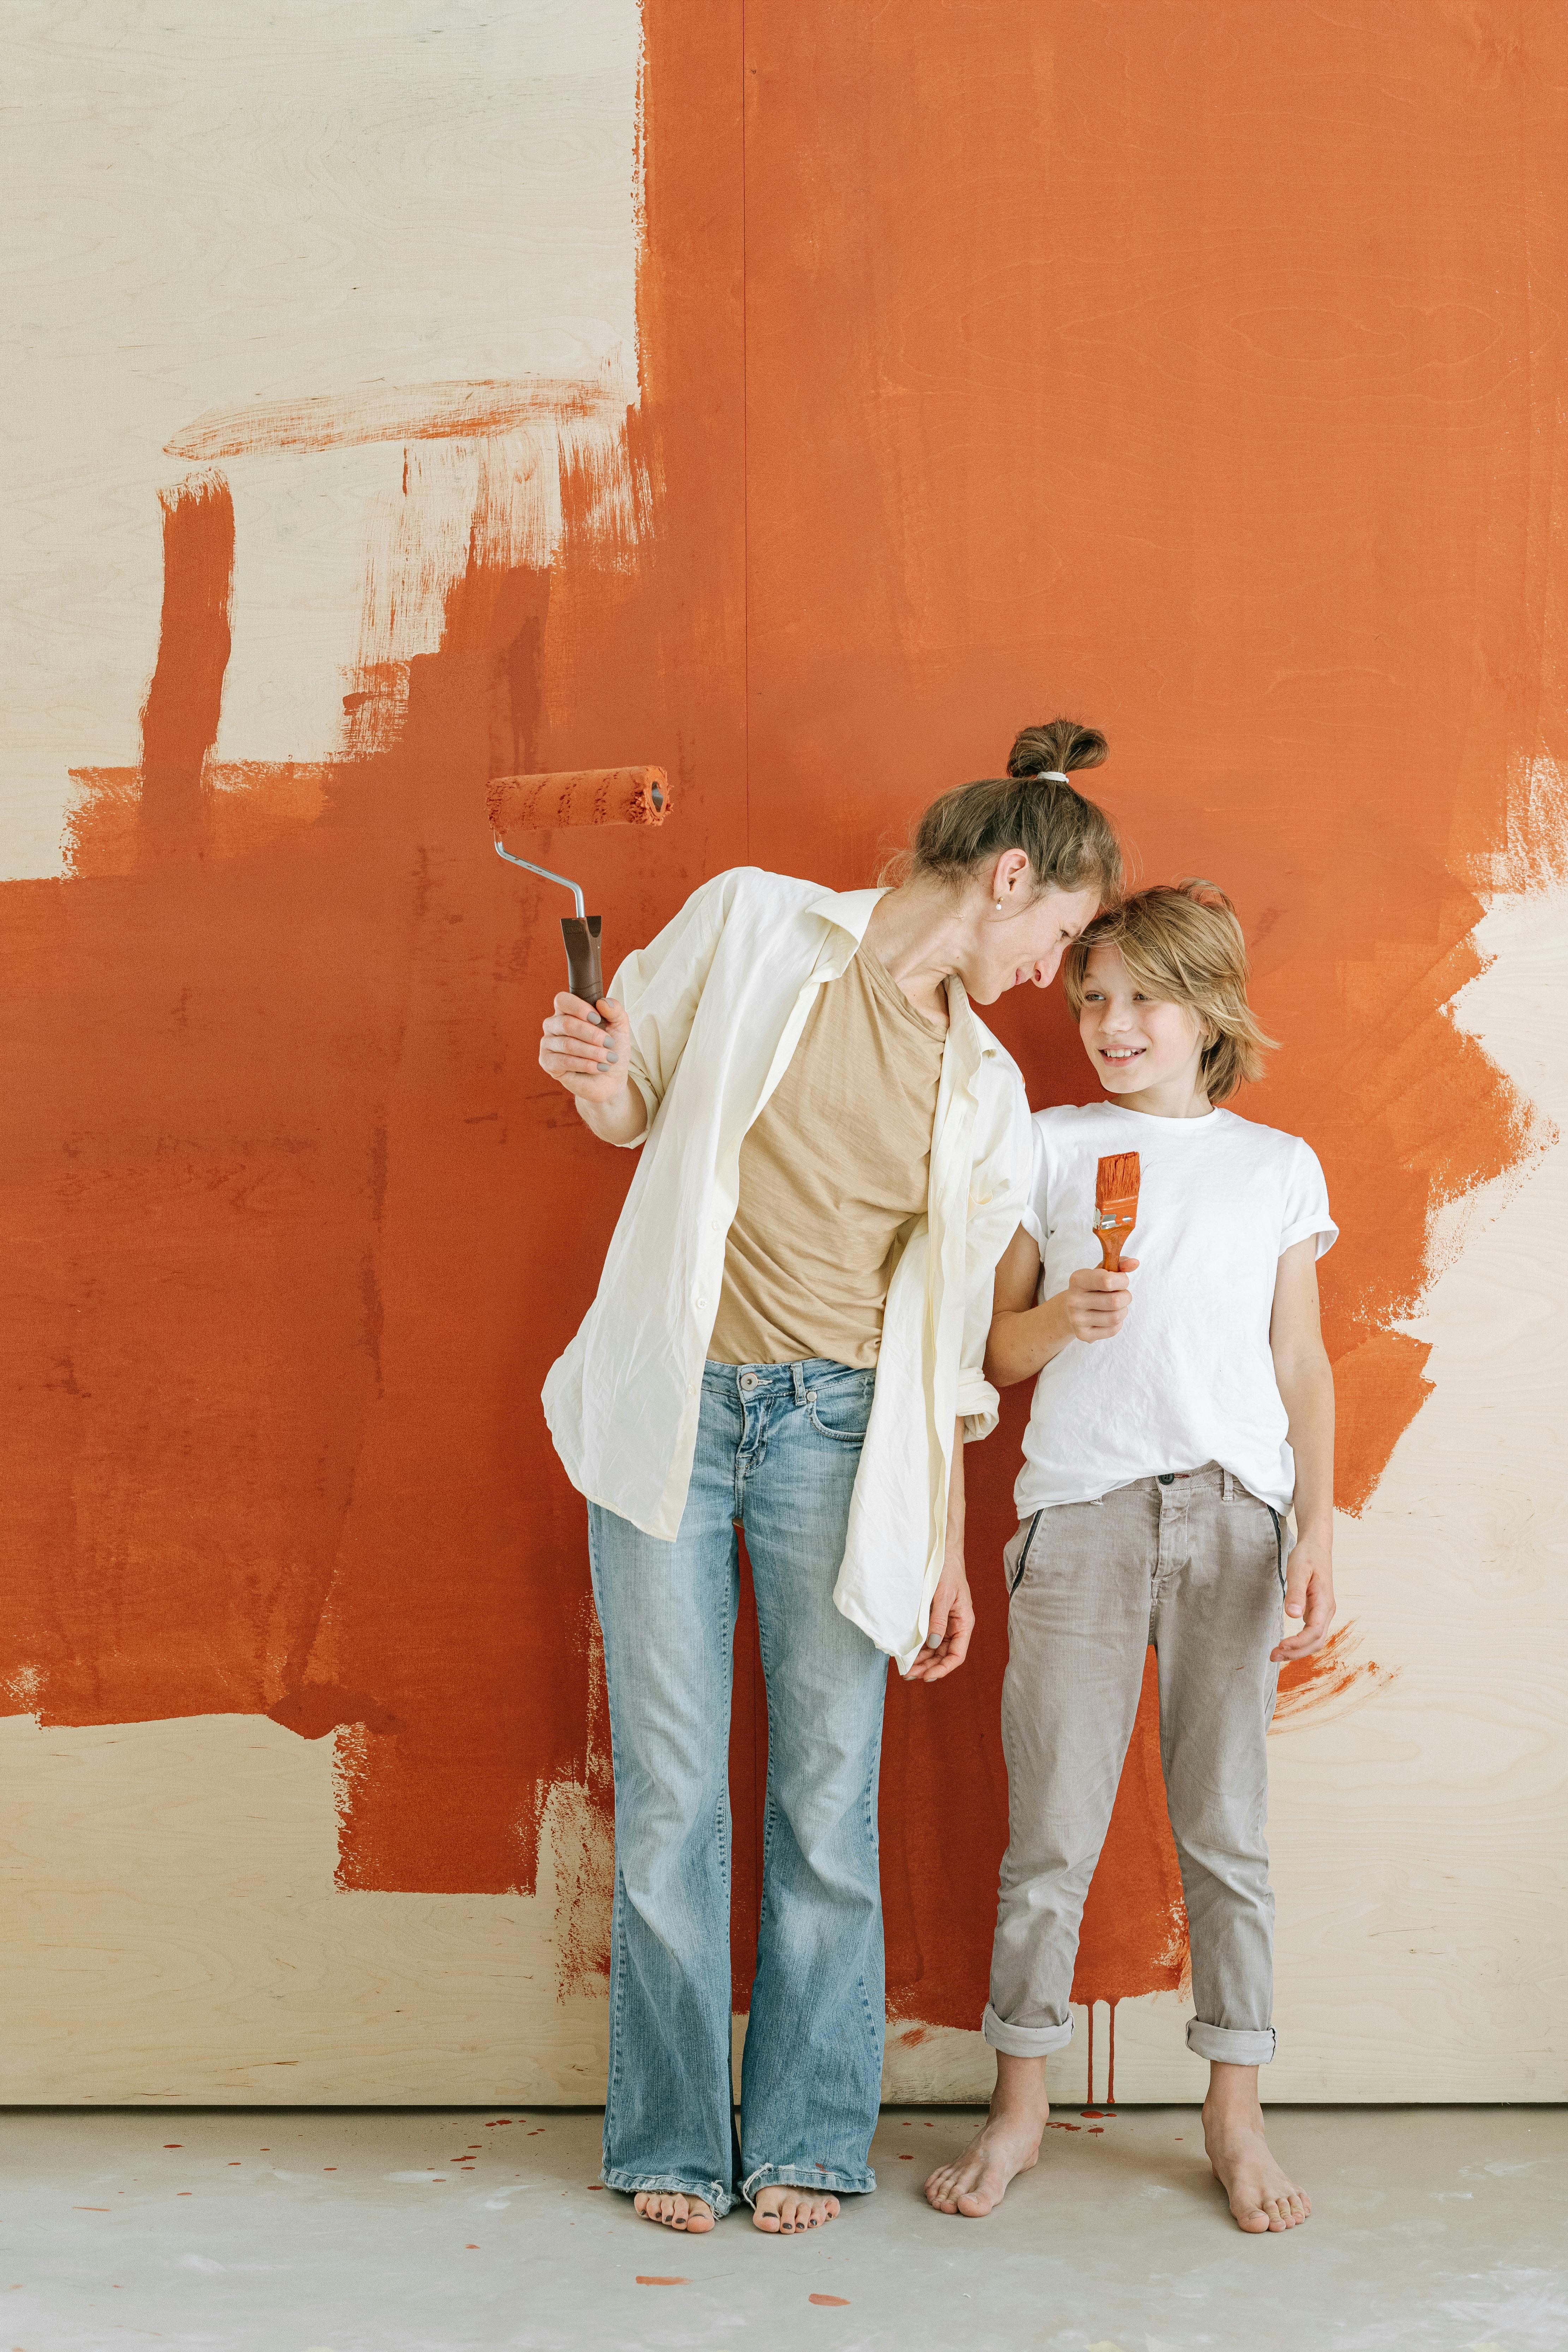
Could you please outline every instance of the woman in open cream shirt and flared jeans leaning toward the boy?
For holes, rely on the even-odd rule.
[[[588,1498],[616,1769],[604,2180],[675,2230],[736,2192],[830,2220],[882,2089],[886,1653],[961,1665],[964,1442],[1030,1171],[1018,1070],[971,1000],[1048,985],[1119,884],[1067,783],[1105,739],[1025,729],[919,821],[896,889],[738,868],[557,997],[541,1065],[644,1145],[545,1416]],[[741,2131],[729,2034],[729,1691],[745,1529],[769,1689]]]

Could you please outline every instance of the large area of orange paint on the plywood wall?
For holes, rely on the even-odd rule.
[[[646,0],[651,541],[569,482],[548,572],[470,567],[402,741],[346,739],[320,811],[256,776],[268,823],[223,833],[209,487],[139,807],[103,786],[132,835],[94,856],[89,802],[75,875],[0,891],[16,1703],[341,1731],[346,1886],[531,1884],[590,1689],[536,1397],[630,1171],[534,1063],[559,931],[489,854],[505,764],[677,779],[672,826],[592,847],[614,955],[726,863],[863,882],[1023,720],[1103,724],[1145,873],[1218,877],[1255,941],[1284,1054],[1244,1108],[1328,1171],[1366,1501],[1425,1392],[1429,1218],[1533,1148],[1443,1007],[1563,750],[1566,49],[1493,0]],[[1086,1091],[1056,997],[997,1028],[1034,1101]],[[1023,1402],[971,1454],[973,1665],[889,1712],[889,1987],[926,2023],[985,1992]],[[750,1658],[733,1755],[745,1825]],[[1180,1973],[1147,1757],[1145,1717],[1079,1997]],[[741,1997],[752,1893],[741,1842]]]

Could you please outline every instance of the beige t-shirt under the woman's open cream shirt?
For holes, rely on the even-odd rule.
[[[877,1362],[898,1240],[926,1214],[945,1042],[867,948],[818,988],[741,1145],[710,1362]]]

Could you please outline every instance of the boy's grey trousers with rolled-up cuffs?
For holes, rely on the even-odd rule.
[[[1133,1736],[1145,1649],[1187,1896],[1199,2058],[1274,2056],[1265,1736],[1284,1628],[1284,1536],[1208,1463],[1025,1519],[1004,1552],[1009,1849],[983,2032],[1013,2058],[1072,2039],[1072,1964]]]

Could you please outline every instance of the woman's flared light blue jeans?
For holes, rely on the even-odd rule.
[[[769,2183],[875,2190],[877,1766],[886,1656],[832,1606],[870,1371],[708,1364],[672,1543],[588,1505],[616,1766],[604,2180],[726,2213]],[[769,1691],[757,1978],[729,2063],[729,1696],[741,1590]]]

